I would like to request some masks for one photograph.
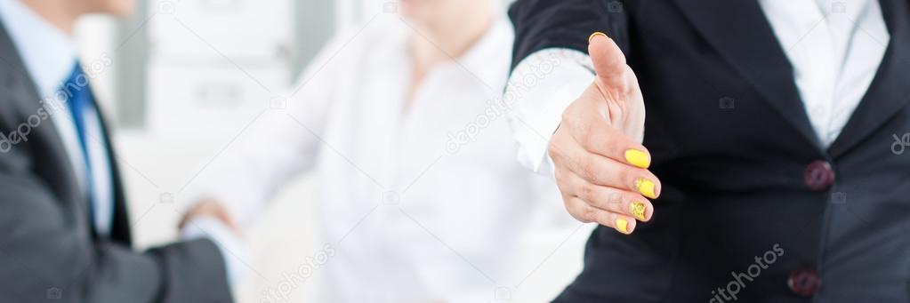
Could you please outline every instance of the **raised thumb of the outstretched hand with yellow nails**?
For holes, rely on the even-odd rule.
[[[601,32],[591,34],[588,38],[588,55],[591,56],[591,64],[597,78],[606,86],[602,88],[621,87],[626,84],[625,55],[613,39]]]

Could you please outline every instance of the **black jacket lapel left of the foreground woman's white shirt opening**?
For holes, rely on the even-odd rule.
[[[737,73],[806,140],[823,149],[794,83],[790,65],[756,1],[675,0],[682,14]]]

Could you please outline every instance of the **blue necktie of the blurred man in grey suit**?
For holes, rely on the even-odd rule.
[[[86,180],[88,185],[89,197],[89,215],[94,226],[96,225],[96,193],[95,181],[92,174],[91,157],[88,154],[89,135],[86,129],[86,114],[95,112],[95,97],[92,95],[91,87],[88,86],[88,76],[82,70],[82,66],[76,63],[73,68],[73,74],[66,79],[63,91],[68,98],[66,106],[69,108],[70,115],[73,116],[73,124],[76,126],[76,133],[79,137],[79,146],[82,147],[82,157],[86,167]]]

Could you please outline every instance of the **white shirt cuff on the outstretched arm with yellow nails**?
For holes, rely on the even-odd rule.
[[[589,56],[568,48],[543,49],[515,66],[503,100],[514,106],[509,120],[522,166],[553,177],[547,145],[562,112],[591,86],[592,71]]]

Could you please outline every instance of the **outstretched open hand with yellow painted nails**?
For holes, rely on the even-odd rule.
[[[588,53],[597,77],[562,113],[549,155],[572,217],[630,234],[636,219],[651,219],[654,208],[645,197],[658,197],[661,188],[641,144],[642,91],[612,39],[594,33]]]

